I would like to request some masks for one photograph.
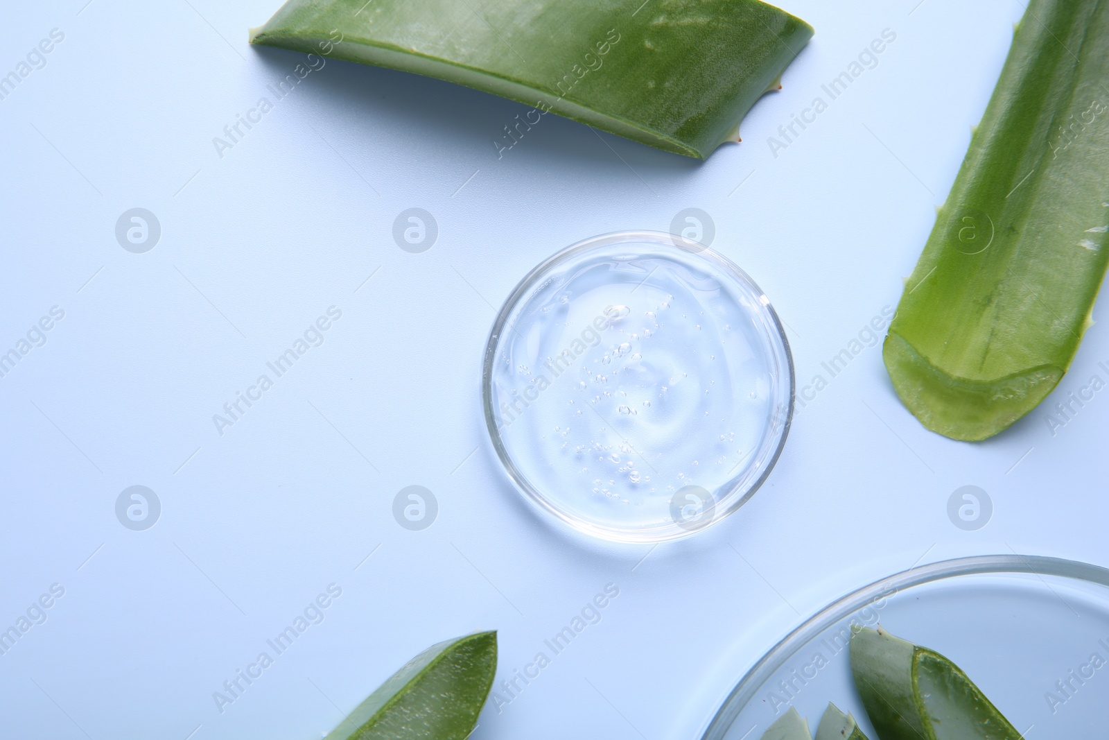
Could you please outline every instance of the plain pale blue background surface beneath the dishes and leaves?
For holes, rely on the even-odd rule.
[[[922,428],[866,349],[743,509],[655,548],[532,511],[487,439],[496,308],[594,234],[706,211],[712,246],[787,324],[800,386],[896,305],[1022,12],[917,1],[791,0],[816,37],[743,143],[699,164],[553,115],[498,160],[490,140],[526,107],[337,61],[220,158],[213,136],[304,59],[246,43],[274,0],[9,0],[0,74],[65,38],[0,101],[0,351],[51,306],[65,317],[0,378],[0,625],[51,584],[65,595],[0,656],[2,734],[307,740],[472,630],[499,630],[499,686],[614,584],[474,738],[692,738],[802,617],[872,579],[1014,550],[1109,561],[1109,392],[1046,422],[1109,379],[1101,324],[1045,407],[978,445]],[[774,156],[767,136],[883,29],[878,65]],[[135,206],[162,226],[144,254],[114,236]],[[423,254],[391,236],[411,206],[439,226]],[[332,305],[326,342],[220,436],[212,415]],[[946,513],[970,484],[994,503],[977,531]],[[132,485],[162,503],[145,531],[115,518]],[[391,515],[409,485],[439,503],[423,531]],[[332,582],[325,621],[221,713],[212,693]]]

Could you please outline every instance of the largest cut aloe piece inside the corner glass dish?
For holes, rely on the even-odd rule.
[[[881,740],[1020,740],[958,666],[881,628],[856,629],[851,670]]]

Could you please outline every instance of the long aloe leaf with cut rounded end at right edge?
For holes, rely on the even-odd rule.
[[[1109,7],[1031,0],[883,347],[927,428],[985,439],[1059,383],[1109,249]]]

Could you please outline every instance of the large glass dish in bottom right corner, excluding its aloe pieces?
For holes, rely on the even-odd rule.
[[[1019,732],[1103,733],[1109,681],[1101,669],[1093,672],[1091,660],[1103,666],[1109,658],[1109,570],[1060,558],[986,555],[912,568],[825,607],[740,679],[702,740],[759,740],[788,707],[815,731],[828,701],[876,738],[851,675],[852,625],[882,625],[945,655]]]

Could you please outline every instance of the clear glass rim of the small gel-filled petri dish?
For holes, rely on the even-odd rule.
[[[711,517],[695,527],[689,525],[681,526],[676,521],[650,528],[613,527],[566,510],[556,500],[552,500],[551,497],[545,495],[543,491],[532,485],[519,469],[512,456],[505,447],[497,426],[492,398],[494,362],[500,346],[500,337],[506,324],[512,318],[513,312],[521,305],[522,301],[530,296],[532,288],[560,265],[570,262],[586,252],[600,250],[613,244],[653,244],[668,249],[676,247],[706,261],[719,273],[718,276],[726,276],[733,287],[737,287],[741,294],[752,298],[751,305],[753,308],[749,308],[747,311],[752,317],[761,320],[760,324],[766,332],[765,338],[769,341],[772,349],[771,355],[767,357],[767,363],[774,369],[772,381],[779,386],[776,391],[780,395],[784,396],[785,410],[784,413],[772,414],[766,419],[759,449],[747,460],[743,470],[732,478],[734,485],[715,500]],[[554,516],[573,529],[618,543],[661,543],[681,539],[715,525],[743,506],[770,476],[771,470],[774,469],[782,454],[782,448],[785,446],[790,426],[793,422],[795,391],[796,379],[794,377],[793,354],[790,351],[790,342],[785,335],[782,322],[777,317],[777,313],[762,288],[759,287],[750,275],[722,254],[685,237],[657,231],[623,231],[601,234],[572,244],[538,264],[517,284],[498,312],[497,318],[494,321],[492,328],[489,332],[489,339],[486,343],[485,361],[481,368],[481,405],[485,413],[486,427],[489,430],[489,438],[497,452],[497,457],[500,459],[509,478],[516,484],[517,489],[540,509]],[[745,475],[752,470],[755,472],[754,475]]]

